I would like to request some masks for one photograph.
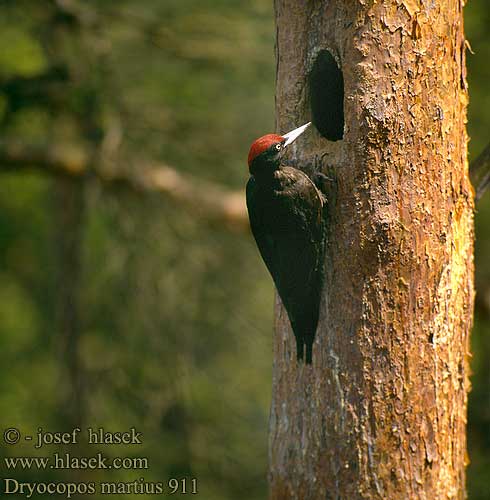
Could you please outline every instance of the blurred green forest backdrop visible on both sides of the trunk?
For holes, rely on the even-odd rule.
[[[489,24],[485,0],[469,2],[472,157],[489,139]],[[99,151],[107,131],[115,131],[114,168],[160,160],[240,189],[248,145],[274,128],[274,34],[269,0],[0,1],[1,137]],[[62,217],[59,190],[83,200],[76,227]],[[488,220],[490,196],[477,213],[473,500],[490,498]],[[66,251],[72,231],[80,237],[76,280],[60,271],[63,259],[70,262],[60,248]],[[70,287],[78,309],[72,357],[59,314]],[[30,433],[80,422],[113,431],[134,426],[144,436],[137,448],[78,451],[147,456],[150,463],[148,471],[32,470],[11,477],[196,477],[203,500],[265,498],[272,300],[248,234],[96,178],[82,188],[39,171],[2,173],[2,426]],[[73,410],[77,376],[83,392]],[[5,454],[32,449],[2,443]]]

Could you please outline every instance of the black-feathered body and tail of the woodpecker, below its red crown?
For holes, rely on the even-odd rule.
[[[281,164],[272,145],[250,164],[252,233],[296,337],[297,358],[312,361],[325,249],[325,198],[301,170]]]

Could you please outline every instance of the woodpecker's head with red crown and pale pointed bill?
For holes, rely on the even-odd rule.
[[[248,168],[252,175],[272,173],[280,163],[284,151],[292,144],[311,123],[298,127],[284,135],[267,134],[259,137],[250,146]]]

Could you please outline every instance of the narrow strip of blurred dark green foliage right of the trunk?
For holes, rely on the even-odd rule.
[[[485,0],[473,0],[465,7],[470,104],[468,132],[470,160],[490,140],[490,7]],[[468,493],[470,500],[490,498],[490,194],[478,203],[475,226],[476,308],[472,333],[472,392],[468,409]]]

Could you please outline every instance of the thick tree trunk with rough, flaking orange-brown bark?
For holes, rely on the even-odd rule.
[[[277,130],[311,117],[308,74],[344,77],[343,140],[298,141],[333,168],[312,367],[278,303],[273,499],[465,498],[473,190],[462,0],[276,0]],[[317,96],[318,97],[318,96]],[[327,106],[328,108],[328,106]]]

